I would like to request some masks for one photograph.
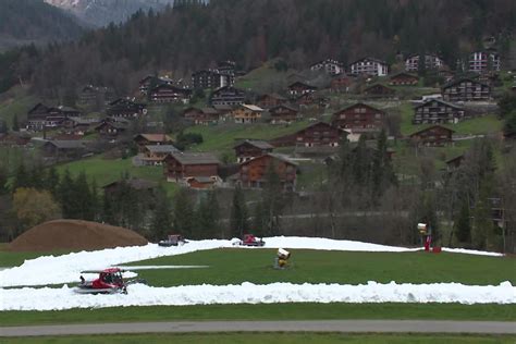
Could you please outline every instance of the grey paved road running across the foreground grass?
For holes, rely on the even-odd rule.
[[[516,334],[516,322],[423,320],[184,321],[0,328],[0,336],[188,332]]]

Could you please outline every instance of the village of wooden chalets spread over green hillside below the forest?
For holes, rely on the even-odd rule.
[[[85,173],[108,195],[122,183],[135,193],[164,187],[169,195],[237,188],[249,201],[272,177],[277,192],[295,195],[287,211],[294,220],[316,211],[310,202],[327,213],[321,187],[337,169],[366,159],[352,183],[367,186],[369,173],[389,182],[371,184],[376,200],[349,201],[355,209],[371,209],[372,201],[376,209],[394,180],[445,188],[426,174],[450,181],[477,138],[512,146],[514,128],[503,130],[497,116],[501,99],[516,94],[516,78],[501,60],[487,39],[484,50],[453,69],[434,53],[403,54],[393,65],[372,57],[348,65],[325,59],[302,71],[281,59],[251,71],[221,61],[191,79],[143,75],[126,95],[85,85],[64,99],[73,107],[33,102],[14,119],[19,131],[0,134],[0,145],[36,149],[40,167]],[[493,222],[503,226],[499,198],[492,195]],[[220,204],[231,212],[230,199]],[[293,219],[283,231],[297,231]],[[142,221],[134,225],[150,225]],[[279,226],[262,225],[266,232]],[[358,237],[389,242],[392,235],[365,230]]]

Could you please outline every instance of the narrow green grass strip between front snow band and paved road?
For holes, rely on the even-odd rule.
[[[259,304],[0,311],[0,327],[187,320],[433,319],[516,321],[516,305]]]

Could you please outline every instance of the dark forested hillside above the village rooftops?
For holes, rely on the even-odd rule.
[[[349,63],[373,56],[392,63],[400,52],[428,51],[454,67],[486,36],[496,37],[503,56],[515,25],[514,0],[177,1],[174,9],[140,11],[124,25],[21,59],[19,74],[52,96],[85,83],[124,93],[128,81],[145,73],[187,75],[223,59],[249,69],[281,57],[304,67],[328,57]]]

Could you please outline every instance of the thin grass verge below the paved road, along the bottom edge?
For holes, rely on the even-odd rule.
[[[5,344],[52,343],[52,344],[86,344],[86,343],[360,343],[360,344],[434,344],[434,343],[514,343],[516,336],[511,335],[421,335],[421,334],[340,334],[340,333],[199,333],[199,334],[112,334],[88,336],[45,336],[5,339]]]

